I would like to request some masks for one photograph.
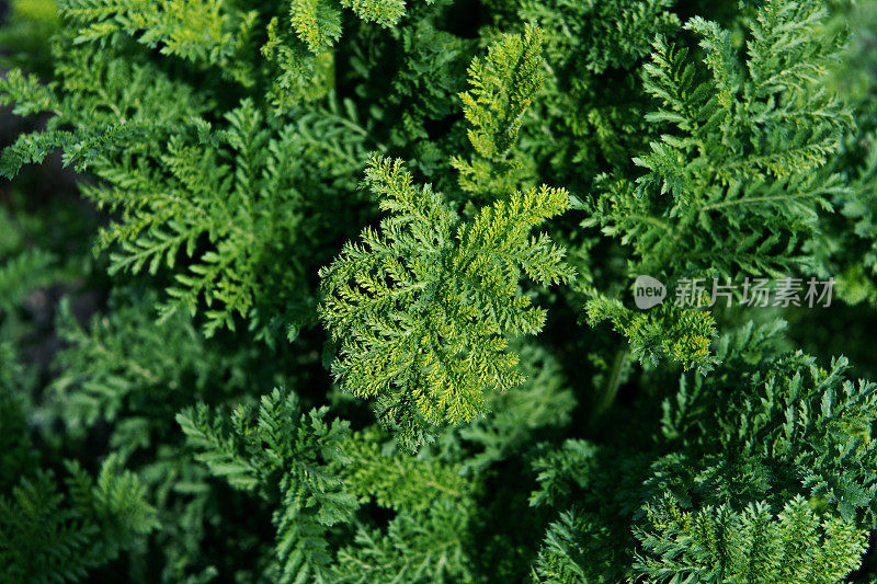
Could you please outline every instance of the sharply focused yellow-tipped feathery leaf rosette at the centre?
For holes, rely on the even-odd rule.
[[[379,417],[415,448],[430,426],[478,419],[489,392],[521,382],[508,336],[537,333],[545,311],[517,282],[572,278],[563,251],[528,232],[569,197],[531,188],[463,222],[398,160],[373,157],[365,182],[392,215],[320,272],[320,318],[340,344],[342,388],[377,398]]]

